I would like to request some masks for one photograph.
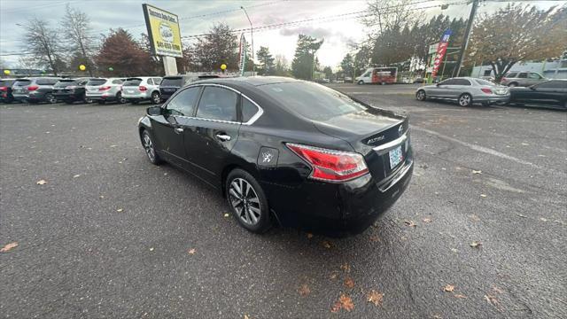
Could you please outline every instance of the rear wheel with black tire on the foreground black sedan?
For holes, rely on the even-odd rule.
[[[247,183],[249,187],[242,182]],[[241,191],[238,193],[237,188],[241,185]],[[227,176],[225,192],[232,214],[246,230],[261,234],[272,227],[268,199],[260,183],[248,172],[240,168],[233,169]]]

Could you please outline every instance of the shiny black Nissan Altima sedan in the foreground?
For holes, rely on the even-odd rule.
[[[360,233],[413,171],[407,118],[289,78],[193,82],[148,108],[139,135],[152,163],[220,190],[252,232]]]

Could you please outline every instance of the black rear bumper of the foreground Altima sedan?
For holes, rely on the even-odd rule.
[[[413,169],[410,151],[404,165],[382,181],[368,174],[346,183],[306,180],[296,186],[262,183],[262,188],[283,227],[342,237],[376,222],[408,188]]]

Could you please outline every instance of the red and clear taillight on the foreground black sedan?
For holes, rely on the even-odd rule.
[[[313,171],[309,177],[315,180],[346,182],[369,172],[364,158],[359,153],[291,143],[285,145],[311,165]]]

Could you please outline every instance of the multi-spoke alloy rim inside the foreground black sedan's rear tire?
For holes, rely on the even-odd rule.
[[[244,178],[235,178],[230,183],[230,205],[242,222],[255,225],[260,221],[260,198],[252,185]]]

